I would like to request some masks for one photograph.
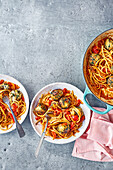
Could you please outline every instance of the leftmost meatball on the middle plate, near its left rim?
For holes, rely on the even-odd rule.
[[[48,107],[45,104],[39,103],[38,106],[35,108],[34,112],[44,114],[47,111],[47,109]]]

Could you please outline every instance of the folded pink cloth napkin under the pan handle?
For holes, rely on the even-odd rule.
[[[113,161],[113,110],[105,115],[91,111],[89,126],[75,141],[72,156],[92,161]]]

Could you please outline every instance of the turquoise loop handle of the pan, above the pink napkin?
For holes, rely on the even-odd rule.
[[[108,104],[106,104],[107,109],[106,109],[105,111],[102,111],[102,112],[101,112],[101,111],[99,111],[99,110],[94,109],[93,107],[91,107],[91,106],[88,104],[88,102],[87,102],[87,100],[86,100],[87,94],[92,94],[92,92],[91,92],[91,91],[89,90],[89,88],[86,86],[86,89],[85,89],[85,92],[84,92],[84,96],[83,96],[83,98],[84,98],[84,103],[85,103],[92,111],[94,111],[94,112],[96,112],[96,113],[98,113],[98,114],[103,115],[103,114],[106,114],[106,113],[108,113],[110,110],[113,109],[113,106],[110,106],[110,105],[108,105]]]

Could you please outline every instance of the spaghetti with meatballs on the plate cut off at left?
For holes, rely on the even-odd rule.
[[[11,111],[2,100],[5,95],[9,97],[11,108],[18,120],[21,119],[21,115],[26,111],[24,96],[19,88],[14,83],[0,80],[0,129],[3,131],[9,130],[14,124]]]

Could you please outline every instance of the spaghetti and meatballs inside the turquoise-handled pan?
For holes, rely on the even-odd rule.
[[[97,97],[113,105],[113,40],[104,38],[89,52],[87,74]]]

